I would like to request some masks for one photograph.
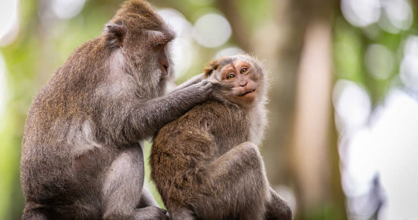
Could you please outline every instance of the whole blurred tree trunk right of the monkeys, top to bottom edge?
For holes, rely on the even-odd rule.
[[[305,8],[302,19],[307,21],[290,141],[292,174],[303,211],[299,217],[346,219],[331,106],[331,30],[338,2],[298,0],[295,5]],[[326,213],[327,205],[333,213]]]

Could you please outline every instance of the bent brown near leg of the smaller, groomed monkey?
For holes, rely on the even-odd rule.
[[[191,202],[198,217],[264,220],[268,182],[257,146],[242,143],[211,162],[199,175],[203,180],[200,195]]]

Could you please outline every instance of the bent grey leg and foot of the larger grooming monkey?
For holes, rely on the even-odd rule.
[[[168,220],[166,210],[155,206],[136,208],[141,203],[144,161],[140,147],[120,153],[110,166],[103,186],[104,220]],[[147,191],[145,191],[145,194]],[[146,195],[150,196],[150,195]],[[143,205],[150,202],[142,200]]]

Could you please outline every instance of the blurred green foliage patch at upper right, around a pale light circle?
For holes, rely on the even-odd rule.
[[[414,6],[414,3],[411,2],[411,5]],[[415,15],[416,7],[411,8]],[[382,30],[378,24],[363,28],[355,27],[339,12],[334,23],[332,45],[335,79],[360,83],[369,92],[373,104],[379,104],[390,88],[400,86],[399,65],[403,58],[402,46],[407,37],[417,34],[416,22],[414,17],[409,29],[393,34]],[[371,44],[383,45],[394,55],[392,71],[385,79],[373,77],[366,69],[365,53]]]

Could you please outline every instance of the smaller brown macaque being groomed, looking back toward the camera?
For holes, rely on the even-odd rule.
[[[211,61],[204,77],[215,100],[159,130],[152,180],[173,220],[290,220],[291,210],[269,186],[257,145],[266,126],[266,72],[236,55]]]

